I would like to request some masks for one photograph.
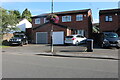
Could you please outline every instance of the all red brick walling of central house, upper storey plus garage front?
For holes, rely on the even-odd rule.
[[[71,14],[70,15],[71,16],[71,22],[62,22],[62,16],[66,16],[66,15],[58,15],[59,16],[59,23],[58,24],[61,24],[61,25],[64,25],[64,26],[67,26],[67,27],[70,27],[70,28],[73,28],[73,29],[85,30],[86,37],[88,37],[88,16],[92,17],[91,10],[83,14],[83,20],[82,21],[76,21],[76,15],[78,15],[78,14]],[[41,24],[44,24],[44,17],[40,18],[41,24],[35,24],[35,19],[36,18],[32,18],[33,28],[37,27]],[[33,42],[35,43],[35,41],[36,41],[36,32],[48,32],[48,38],[49,38],[48,41],[50,43],[50,40],[51,40],[50,30],[51,30],[51,24],[47,24],[47,25],[44,25],[40,28],[37,28],[36,30],[33,30]],[[54,25],[54,31],[64,31],[65,36],[68,36],[68,35],[71,35],[72,33],[74,33],[70,29],[61,28],[61,27],[58,27],[58,26],[55,26],[55,25]]]

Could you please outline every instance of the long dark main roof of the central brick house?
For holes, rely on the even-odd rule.
[[[87,13],[89,10],[91,10],[91,9],[55,12],[54,14],[56,14],[56,15],[66,15],[66,14],[74,14],[74,13]],[[49,14],[51,14],[51,13],[46,13],[46,14],[41,14],[41,15],[33,16],[32,18],[34,18],[34,17],[45,17],[45,16],[47,16]]]

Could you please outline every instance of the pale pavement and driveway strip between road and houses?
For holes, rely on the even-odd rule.
[[[42,56],[59,56],[59,57],[76,57],[76,58],[95,58],[95,59],[113,59],[119,60],[120,49],[102,49],[94,48],[93,52],[87,52],[83,45],[79,46],[54,46],[54,52],[50,52],[50,45],[46,44],[29,44],[25,46],[15,46],[3,48],[3,53],[12,54],[32,54]]]

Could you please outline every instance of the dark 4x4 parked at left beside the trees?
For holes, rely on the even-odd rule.
[[[15,33],[14,36],[9,40],[9,45],[23,46],[25,44],[28,44],[28,40],[24,33]]]

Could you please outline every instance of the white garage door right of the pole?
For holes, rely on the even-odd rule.
[[[53,32],[53,44],[64,44],[64,32]]]

